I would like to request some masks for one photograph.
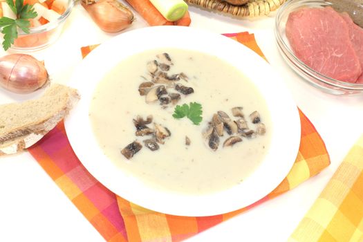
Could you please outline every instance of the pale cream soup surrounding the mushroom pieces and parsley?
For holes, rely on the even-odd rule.
[[[145,95],[138,91],[142,82],[151,79],[147,63],[154,59],[162,62],[156,57],[160,53],[168,53],[171,58],[168,75],[183,73],[187,80],[180,78],[178,83],[194,90],[187,95],[173,90],[180,94],[176,104],[162,105],[159,100],[146,102]],[[172,116],[176,105],[190,102],[202,105],[203,120],[199,125],[188,118]],[[257,124],[252,123],[249,115],[258,111],[266,133],[252,138],[234,134],[242,142],[223,147],[224,140],[230,137],[224,132],[218,148],[211,149],[203,132],[217,111],[224,111],[232,120],[237,120],[231,111],[236,106],[243,107],[245,120],[253,130]],[[158,143],[156,151],[144,146],[142,140],[150,137],[136,136],[133,123],[136,117],[146,119],[148,115],[171,133],[162,140],[164,144]],[[241,71],[212,55],[176,48],[148,50],[115,66],[97,85],[89,117],[100,147],[119,169],[136,176],[145,185],[183,194],[208,194],[243,182],[266,156],[272,133],[266,101]],[[147,126],[153,129],[152,123]],[[125,158],[122,149],[136,140],[142,149],[133,157]]]

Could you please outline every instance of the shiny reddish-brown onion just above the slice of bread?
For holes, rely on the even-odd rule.
[[[12,54],[0,58],[0,85],[13,93],[31,93],[48,82],[48,72],[31,55]]]

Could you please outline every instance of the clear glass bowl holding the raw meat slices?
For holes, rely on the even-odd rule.
[[[350,4],[346,3],[348,0],[290,0],[277,10],[275,19],[274,34],[277,40],[277,46],[281,55],[286,60],[288,65],[309,84],[317,87],[322,91],[336,95],[353,95],[363,93],[363,84],[352,84],[348,82],[342,82],[335,80],[331,77],[323,75],[314,71],[312,68],[304,64],[292,51],[289,41],[286,37],[285,26],[288,20],[288,15],[299,8],[324,8],[331,6],[338,12],[348,12],[351,18],[358,23],[362,21],[360,17],[363,16],[363,5],[358,1],[350,1]],[[362,24],[363,25],[363,24]],[[361,25],[361,27],[362,27]]]

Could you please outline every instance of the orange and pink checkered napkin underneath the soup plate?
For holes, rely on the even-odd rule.
[[[254,35],[227,34],[263,56]],[[96,46],[82,48],[85,56]],[[299,111],[301,142],[290,173],[273,192],[241,210],[204,217],[171,216],[153,212],[120,198],[95,180],[77,159],[68,142],[63,122],[29,152],[84,214],[106,241],[182,241],[236,214],[296,187],[330,164],[326,147],[308,118]]]

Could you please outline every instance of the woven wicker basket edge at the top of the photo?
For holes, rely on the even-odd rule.
[[[219,12],[232,17],[259,17],[269,15],[287,0],[249,0],[242,6],[234,6],[223,0],[185,0],[192,6]]]

